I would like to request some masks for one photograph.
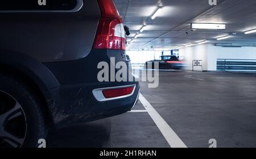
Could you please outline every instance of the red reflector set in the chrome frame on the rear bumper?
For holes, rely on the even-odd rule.
[[[127,88],[108,89],[108,90],[102,91],[102,93],[105,98],[114,98],[114,97],[129,95],[133,93],[133,90],[134,90],[134,86],[127,87]]]

